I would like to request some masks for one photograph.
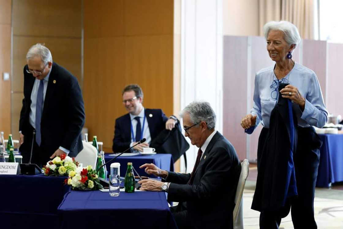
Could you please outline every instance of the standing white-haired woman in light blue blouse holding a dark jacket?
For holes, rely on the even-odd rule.
[[[296,26],[287,21],[271,21],[263,26],[263,30],[267,51],[275,65],[256,73],[253,108],[240,123],[248,134],[260,123],[263,125],[257,153],[258,178],[251,208],[261,212],[260,228],[279,228],[281,218],[288,215],[291,206],[294,228],[317,228],[313,202],[321,142],[312,126],[323,127],[328,112],[316,74],[292,59],[292,52],[300,42]],[[279,88],[283,83],[288,85]],[[289,138],[289,129],[287,133],[286,128],[275,125],[276,116],[271,116],[281,100],[286,101],[284,104],[291,101],[287,117],[291,119],[292,115],[288,114],[293,112],[294,138]],[[285,137],[272,141],[272,135]],[[282,157],[282,154],[277,154],[283,150],[280,146],[285,144],[291,149],[287,155],[290,163],[286,161],[290,166],[288,178],[291,177],[291,181],[282,186],[285,182],[278,175],[287,171],[280,171],[282,169],[276,161]],[[266,154],[266,150],[269,150],[269,154]],[[274,175],[267,171],[274,171]]]

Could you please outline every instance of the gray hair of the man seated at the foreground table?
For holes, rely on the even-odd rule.
[[[216,115],[209,102],[194,101],[189,103],[180,112],[180,117],[183,118],[186,112],[189,113],[191,122],[193,124],[204,121],[207,123],[207,128],[209,130],[212,130],[215,127]]]

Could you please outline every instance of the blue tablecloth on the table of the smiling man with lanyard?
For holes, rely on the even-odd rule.
[[[105,162],[108,162],[113,158],[114,156],[109,156],[109,154],[105,154]],[[132,165],[141,176],[156,177],[154,175],[147,175],[144,172],[144,169],[139,168],[139,166],[143,165],[144,163],[153,163],[162,170],[174,172],[174,162],[171,154],[157,153],[154,155],[119,156],[113,162],[120,163],[120,176],[125,176],[128,162],[132,162]],[[111,163],[106,165],[108,173],[110,171],[110,164]]]

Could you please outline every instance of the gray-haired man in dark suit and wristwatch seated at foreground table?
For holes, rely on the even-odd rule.
[[[185,136],[199,148],[191,174],[161,170],[144,164],[147,174],[162,177],[139,181],[141,190],[164,191],[179,229],[233,228],[234,198],[240,163],[233,145],[214,130],[216,116],[208,102],[192,102],[182,112]]]

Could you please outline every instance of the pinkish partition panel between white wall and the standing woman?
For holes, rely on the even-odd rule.
[[[223,134],[242,160],[247,151],[240,120],[247,114],[248,37],[224,36],[223,42]]]

